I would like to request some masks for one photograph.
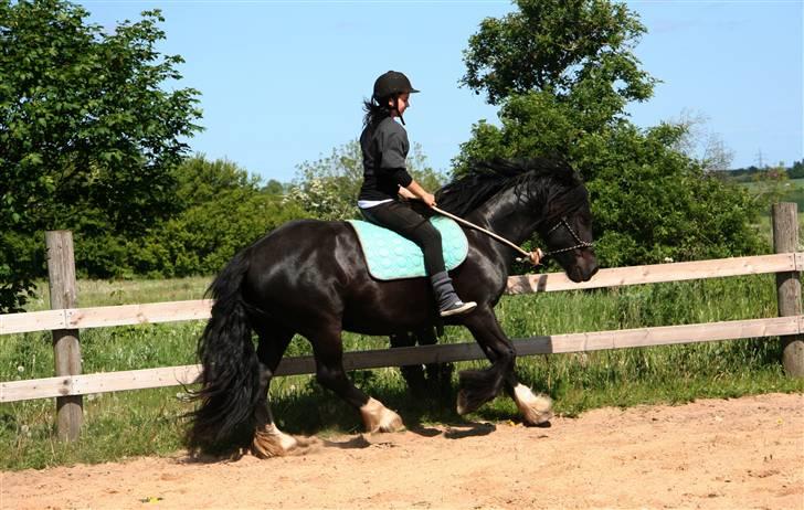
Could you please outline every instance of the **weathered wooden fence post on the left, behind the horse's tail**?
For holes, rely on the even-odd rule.
[[[47,246],[51,308],[54,310],[76,308],[73,233],[70,231],[46,232],[45,245]],[[54,330],[53,351],[56,376],[81,374],[81,346],[77,329]],[[83,407],[81,395],[56,397],[56,419],[61,439],[75,440],[78,438],[83,422]]]

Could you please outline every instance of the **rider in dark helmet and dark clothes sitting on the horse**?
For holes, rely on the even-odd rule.
[[[390,229],[413,241],[424,253],[424,266],[435,293],[442,317],[466,314],[474,301],[464,302],[455,294],[452,279],[444,266],[441,233],[409,203],[399,200],[421,199],[429,206],[435,196],[422,188],[405,169],[410,144],[402,127],[410,95],[416,93],[410,79],[399,72],[389,71],[374,82],[371,100],[363,102],[366,116],[360,135],[363,152],[363,184],[358,206],[371,223]],[[396,123],[396,118],[402,123]]]

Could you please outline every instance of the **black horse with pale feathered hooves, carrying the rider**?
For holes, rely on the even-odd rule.
[[[585,281],[597,270],[589,194],[563,162],[495,160],[441,189],[436,200],[441,209],[518,244],[538,232],[573,281]],[[516,252],[477,231],[465,232],[468,257],[452,277],[458,294],[478,306],[443,320],[467,327],[491,365],[459,374],[457,411],[472,412],[506,390],[526,423],[542,423],[551,416],[550,400],[517,381],[514,346],[494,314]],[[318,382],[359,410],[367,431],[403,426],[396,413],[347,376],[341,331],[389,336],[442,319],[426,278],[371,278],[349,224],[289,222],[236,254],[209,294],[215,302],[198,347],[203,372],[194,394],[201,405],[191,414],[188,433],[191,450],[251,443],[256,455],[274,456],[298,445],[276,427],[267,399],[295,333],[313,346]],[[256,349],[252,332],[258,337]]]

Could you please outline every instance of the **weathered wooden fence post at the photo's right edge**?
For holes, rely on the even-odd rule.
[[[776,253],[798,251],[798,210],[797,204],[782,202],[773,204],[773,248]],[[802,314],[801,273],[776,273],[776,298],[779,316]],[[782,365],[787,375],[804,378],[804,337],[793,334],[781,337]]]

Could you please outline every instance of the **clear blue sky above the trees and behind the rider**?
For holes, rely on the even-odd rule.
[[[226,158],[264,179],[357,138],[374,78],[406,73],[422,93],[405,115],[412,142],[442,171],[479,119],[497,108],[458,86],[462,52],[508,1],[105,1],[91,21],[113,26],[161,9],[163,53],[180,54],[181,86],[198,88],[205,131],[193,151]],[[648,33],[636,49],[663,81],[632,105],[642,127],[706,118],[733,151],[732,167],[803,158],[802,1],[631,1]]]

